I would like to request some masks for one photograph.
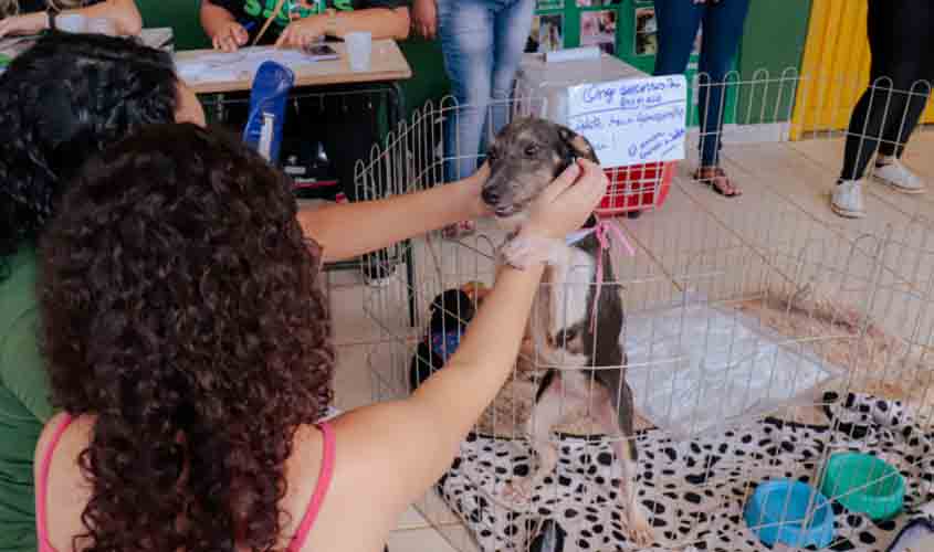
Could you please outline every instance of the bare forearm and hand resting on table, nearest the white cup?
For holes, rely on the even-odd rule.
[[[318,36],[344,38],[351,32],[372,33],[374,40],[406,40],[409,36],[409,9],[367,8],[354,11],[337,11],[333,15],[319,14],[294,21],[282,31],[276,46],[301,46]]]

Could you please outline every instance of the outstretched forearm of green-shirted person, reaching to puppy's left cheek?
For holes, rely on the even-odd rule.
[[[402,240],[486,214],[480,190],[489,169],[426,190],[386,200],[303,209],[298,223],[324,250],[325,262],[353,258]]]

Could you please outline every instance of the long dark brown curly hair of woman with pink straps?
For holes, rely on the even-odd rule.
[[[62,201],[41,319],[53,402],[97,415],[85,550],[274,549],[283,464],[334,363],[319,250],[285,178],[235,141],[157,125]]]

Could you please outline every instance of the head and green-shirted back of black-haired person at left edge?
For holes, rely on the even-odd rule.
[[[170,55],[132,40],[51,33],[0,76],[0,552],[36,550],[32,458],[54,414],[35,245],[88,157],[172,120],[204,115]]]

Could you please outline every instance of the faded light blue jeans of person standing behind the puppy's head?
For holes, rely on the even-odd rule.
[[[508,123],[534,9],[535,0],[438,0],[444,68],[458,106],[444,125],[449,182],[473,174],[486,137]]]

